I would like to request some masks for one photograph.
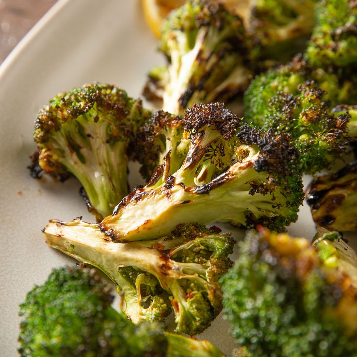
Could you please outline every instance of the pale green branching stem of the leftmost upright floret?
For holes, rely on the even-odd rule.
[[[107,127],[96,125],[87,118],[89,115],[82,114],[81,118],[76,119],[78,126],[85,127],[86,135],[77,135],[74,142],[70,137],[70,126],[67,128],[67,123],[64,123],[53,134],[53,140],[62,153],[58,161],[79,179],[89,199],[89,210],[96,215],[97,220],[101,220],[111,214],[118,200],[128,193],[129,159],[124,141],[103,145],[106,142]]]

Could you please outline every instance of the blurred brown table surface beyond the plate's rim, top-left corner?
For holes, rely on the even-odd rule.
[[[0,64],[57,0],[0,0]]]

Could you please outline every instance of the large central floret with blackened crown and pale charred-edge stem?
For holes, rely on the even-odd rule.
[[[103,232],[135,241],[169,234],[181,222],[282,230],[297,219],[299,158],[283,135],[243,125],[220,103],[196,104],[184,121],[190,143],[182,165],[157,185],[159,167],[100,223]]]

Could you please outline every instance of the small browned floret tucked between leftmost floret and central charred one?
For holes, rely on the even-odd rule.
[[[133,150],[135,159],[142,164],[140,173],[145,179],[149,180],[159,165],[163,179],[181,166],[188,149],[183,126],[180,116],[160,110],[138,130]]]

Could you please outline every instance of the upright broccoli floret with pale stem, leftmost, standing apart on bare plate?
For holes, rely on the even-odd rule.
[[[110,84],[60,93],[35,120],[39,165],[56,178],[79,179],[89,211],[100,220],[128,193],[127,149],[150,114]]]

